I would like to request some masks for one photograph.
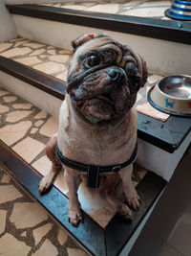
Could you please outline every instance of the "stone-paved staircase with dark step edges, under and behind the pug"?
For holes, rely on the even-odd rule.
[[[190,120],[157,111],[147,104],[146,92],[167,74],[190,75],[191,30],[186,22],[179,28],[179,22],[163,17],[100,13],[97,4],[91,3],[86,7],[60,3],[7,6],[19,37],[0,44],[0,158],[3,168],[90,254],[127,255],[190,142]],[[142,204],[134,221],[126,222],[96,192],[81,186],[85,221],[74,228],[67,220],[64,173],[44,197],[37,187],[50,168],[44,147],[57,130],[73,56],[70,41],[100,30],[133,46],[149,66],[149,82],[138,93],[138,161],[133,177]]]

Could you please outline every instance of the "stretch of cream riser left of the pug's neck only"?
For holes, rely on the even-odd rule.
[[[25,99],[26,101],[29,101],[33,105],[50,113],[54,117],[58,117],[59,108],[62,101],[53,95],[35,88],[31,84],[16,79],[2,71],[0,71],[0,84],[13,94]]]

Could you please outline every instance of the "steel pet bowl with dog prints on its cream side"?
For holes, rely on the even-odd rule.
[[[165,77],[148,91],[147,99],[162,112],[191,117],[191,77]]]

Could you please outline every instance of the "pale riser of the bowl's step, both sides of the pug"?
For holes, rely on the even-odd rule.
[[[52,95],[33,87],[31,84],[25,81],[20,81],[2,71],[0,72],[0,84],[6,90],[11,91],[13,94],[18,95],[58,118],[59,108],[62,101],[56,97],[53,97]],[[183,152],[188,147],[190,140],[191,134],[182,143],[179,150],[169,153],[138,138],[137,162],[142,167],[153,171],[157,175],[160,175],[169,181],[179,164],[180,158],[178,155],[182,156]],[[160,159],[162,159],[162,161]]]

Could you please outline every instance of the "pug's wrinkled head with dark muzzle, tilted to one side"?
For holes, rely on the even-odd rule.
[[[82,35],[73,46],[67,91],[74,107],[93,124],[123,116],[146,82],[143,59],[107,35]]]

